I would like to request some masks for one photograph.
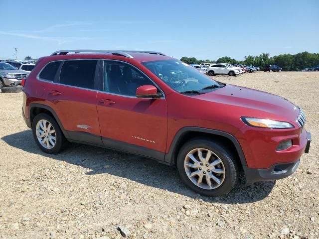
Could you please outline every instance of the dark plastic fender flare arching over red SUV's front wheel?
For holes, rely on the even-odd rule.
[[[223,137],[229,139],[235,145],[235,148],[236,148],[237,153],[239,155],[239,159],[240,159],[242,166],[247,166],[244,152],[243,152],[243,150],[242,150],[242,148],[241,148],[241,146],[240,146],[240,144],[235,136],[233,136],[230,133],[216,130],[216,129],[193,127],[193,126],[183,127],[181,129],[179,129],[178,132],[175,134],[175,136],[170,144],[169,151],[165,155],[165,162],[166,163],[175,164],[173,155],[175,154],[176,145],[177,145],[179,139],[182,137],[182,135],[186,132],[203,132],[203,133],[208,133],[211,135],[223,136]]]

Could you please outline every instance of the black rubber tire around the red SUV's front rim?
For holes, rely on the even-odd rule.
[[[225,179],[222,184],[215,189],[203,189],[196,186],[187,176],[184,168],[186,155],[193,149],[204,148],[214,152],[222,161],[225,169]],[[230,192],[238,182],[239,169],[237,161],[232,153],[224,146],[204,138],[195,138],[186,142],[179,150],[177,156],[177,170],[183,183],[193,191],[209,197],[218,197]]]

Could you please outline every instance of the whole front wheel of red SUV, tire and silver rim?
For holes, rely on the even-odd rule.
[[[225,147],[207,139],[192,139],[180,149],[177,169],[182,181],[195,192],[217,197],[238,181],[237,162]]]

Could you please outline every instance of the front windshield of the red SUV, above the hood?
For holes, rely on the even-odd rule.
[[[200,91],[220,86],[216,81],[179,60],[160,60],[142,63],[169,87],[177,92]],[[206,93],[206,92],[200,92]]]

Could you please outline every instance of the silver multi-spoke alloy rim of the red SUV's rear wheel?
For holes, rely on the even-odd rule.
[[[35,130],[36,137],[44,148],[51,149],[55,146],[55,129],[49,121],[45,119],[39,120],[36,124]]]

